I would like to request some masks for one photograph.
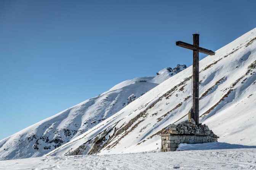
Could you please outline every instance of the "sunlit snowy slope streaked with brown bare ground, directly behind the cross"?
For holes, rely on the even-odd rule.
[[[255,71],[256,28],[200,61],[200,122],[220,137],[219,142],[256,145]],[[187,119],[191,73],[192,67],[179,72],[48,155],[157,149],[158,134],[169,124]]]

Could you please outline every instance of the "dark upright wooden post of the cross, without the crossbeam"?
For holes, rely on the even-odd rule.
[[[199,34],[193,34],[193,112],[195,124],[199,124]]]

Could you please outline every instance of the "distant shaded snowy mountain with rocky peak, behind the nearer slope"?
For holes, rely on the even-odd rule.
[[[185,68],[186,65],[177,65],[161,70],[157,76],[126,80],[97,97],[11,135],[0,141],[0,160],[42,156],[93,128]]]

